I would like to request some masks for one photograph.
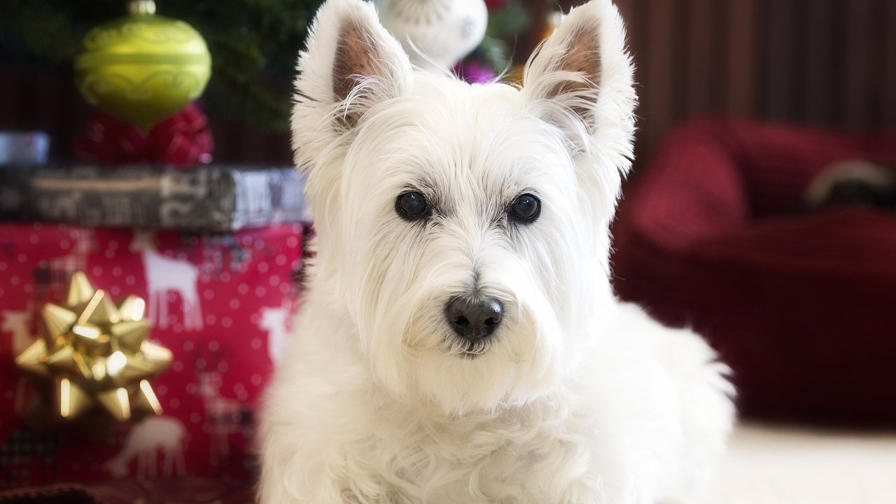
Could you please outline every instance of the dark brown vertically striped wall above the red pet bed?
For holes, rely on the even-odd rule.
[[[896,1],[616,0],[638,66],[638,152],[687,117],[896,127]]]

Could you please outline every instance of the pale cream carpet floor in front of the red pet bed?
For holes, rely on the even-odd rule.
[[[896,430],[741,425],[705,502],[896,504]]]

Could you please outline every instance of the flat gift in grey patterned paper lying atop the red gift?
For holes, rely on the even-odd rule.
[[[0,215],[40,222],[223,232],[298,222],[305,210],[292,168],[4,167],[0,182],[27,195],[0,204]]]

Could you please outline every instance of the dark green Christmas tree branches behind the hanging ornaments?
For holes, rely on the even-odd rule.
[[[192,25],[211,51],[203,100],[216,113],[245,117],[271,131],[289,127],[296,56],[322,0],[158,0],[157,12]],[[488,37],[471,56],[497,73],[510,68],[505,40],[528,27],[521,0],[491,0]],[[3,0],[0,53],[23,69],[51,65],[72,73],[72,61],[93,27],[127,13],[125,0]]]

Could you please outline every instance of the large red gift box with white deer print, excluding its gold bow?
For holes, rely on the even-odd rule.
[[[117,477],[248,477],[254,410],[297,302],[300,224],[230,234],[0,223],[0,488]],[[13,359],[35,318],[84,271],[114,300],[148,303],[151,340],[174,352],[153,381],[164,413],[111,435],[39,432]]]

